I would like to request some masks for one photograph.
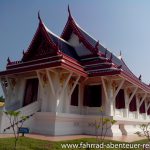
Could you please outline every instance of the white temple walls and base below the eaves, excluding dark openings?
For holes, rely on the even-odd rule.
[[[49,82],[42,87],[39,84],[37,100],[40,102],[41,112],[35,111],[35,115],[25,123],[25,126],[29,127],[31,132],[49,135],[95,134],[94,121],[97,117],[100,117],[99,107],[83,106],[84,84],[81,83],[79,83],[78,106],[71,106],[69,82],[64,89],[64,84],[68,76],[66,76],[63,81],[61,81],[60,73],[51,76],[55,95]],[[29,78],[34,77],[31,76]],[[26,79],[25,77],[18,77],[15,88],[9,90],[10,94],[6,99],[6,108],[16,108],[16,103],[19,103],[19,108],[22,107]],[[101,80],[101,78],[99,79]],[[86,84],[102,85],[101,81],[96,83],[92,82],[92,80],[89,80]],[[147,123],[149,121],[150,115],[147,116],[145,113],[138,114],[138,111],[130,112],[127,107],[127,109],[116,109],[114,107],[115,103],[113,103],[115,91],[111,82],[107,82],[106,87],[108,99],[106,99],[102,85],[102,106],[104,107],[104,113],[105,116],[117,120],[117,123],[108,131],[108,136],[133,134],[138,131],[138,124]],[[129,101],[126,92],[125,100],[126,103]],[[21,109],[24,109],[24,107]],[[2,116],[1,129],[6,127],[7,123],[5,119],[6,118]]]

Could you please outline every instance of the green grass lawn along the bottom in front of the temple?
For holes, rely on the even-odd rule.
[[[61,141],[61,142],[49,142],[49,141],[42,141],[42,140],[36,140],[36,139],[31,139],[31,138],[26,138],[26,137],[20,137],[18,144],[17,144],[17,150],[63,150],[61,147],[61,144],[80,144],[81,142],[83,143],[97,143],[94,138],[91,139],[80,139],[80,140],[71,140],[71,141]],[[115,144],[121,144],[122,142],[118,141],[108,141],[105,140],[105,144],[107,143],[115,143]],[[133,142],[134,144],[140,143],[140,144],[145,144],[147,143],[147,140],[141,140],[137,142]],[[125,142],[124,142],[125,143]],[[128,144],[128,143],[126,143]],[[14,150],[14,139],[13,138],[3,138],[0,139],[0,150]],[[90,150],[88,148],[64,148],[64,150]],[[92,149],[92,150],[97,150]],[[107,148],[107,150],[121,150],[119,148]],[[125,149],[129,150],[129,149]],[[137,150],[132,149],[132,150]],[[138,150],[142,150],[142,148],[139,148]]]

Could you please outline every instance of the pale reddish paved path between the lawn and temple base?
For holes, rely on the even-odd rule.
[[[81,138],[95,138],[91,135],[70,135],[70,136],[48,136],[41,134],[26,134],[26,137],[33,139],[40,139],[46,141],[66,141],[66,140],[75,140]],[[13,137],[13,134],[0,134],[0,138]],[[145,139],[144,137],[138,137],[137,135],[128,135],[128,136],[115,136],[115,137],[106,137],[109,140],[122,141],[122,142],[133,142]]]

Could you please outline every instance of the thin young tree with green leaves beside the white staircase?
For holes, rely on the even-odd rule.
[[[14,138],[15,138],[15,144],[14,144],[14,150],[16,150],[17,147],[17,141],[19,139],[19,128],[23,126],[23,123],[29,118],[28,116],[21,116],[20,111],[4,111],[5,115],[7,116],[10,127],[7,129],[13,130]],[[6,129],[4,130],[4,132]]]

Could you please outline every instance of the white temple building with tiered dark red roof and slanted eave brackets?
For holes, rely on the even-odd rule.
[[[117,123],[107,135],[128,135],[150,121],[150,87],[69,16],[61,36],[38,14],[35,35],[19,61],[7,60],[0,80],[5,110],[29,116],[24,126],[47,135],[94,135],[102,114]],[[10,124],[0,115],[0,132]]]

